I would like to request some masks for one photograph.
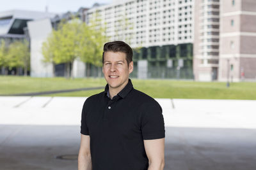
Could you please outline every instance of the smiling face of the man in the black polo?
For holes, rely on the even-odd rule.
[[[122,90],[129,80],[133,70],[133,62],[127,64],[126,54],[123,52],[105,52],[102,72],[109,88]]]

